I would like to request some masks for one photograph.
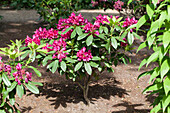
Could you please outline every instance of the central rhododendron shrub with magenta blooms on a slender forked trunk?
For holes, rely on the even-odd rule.
[[[91,23],[81,14],[76,16],[72,13],[69,18],[61,18],[57,27],[53,28],[53,31],[55,29],[55,33],[58,33],[57,37],[49,38],[54,37],[55,33],[44,36],[43,33],[49,34],[49,31],[39,28],[36,31],[42,34],[35,32],[32,39],[29,39],[32,42],[26,39],[25,45],[45,44],[42,50],[47,53],[36,56],[39,62],[46,65],[52,73],[57,71],[78,83],[83,89],[85,100],[89,102],[87,95],[91,79],[99,78],[104,70],[113,72],[113,64],[126,64],[129,60],[124,52],[118,50],[130,48],[134,41],[133,26],[137,21],[133,18],[135,22],[127,24],[122,19],[118,16],[99,15],[95,22]]]

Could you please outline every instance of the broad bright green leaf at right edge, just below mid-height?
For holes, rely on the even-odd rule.
[[[161,65],[161,80],[163,80],[164,76],[170,70],[170,65],[168,63],[168,59],[166,59]]]

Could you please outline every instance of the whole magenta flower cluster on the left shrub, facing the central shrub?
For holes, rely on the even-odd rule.
[[[28,71],[25,72],[25,69],[22,69],[22,65],[20,63],[16,65],[16,69],[17,71],[13,73],[13,76],[18,85],[21,85],[22,81],[24,80],[25,83],[31,81],[32,73],[29,73]]]

